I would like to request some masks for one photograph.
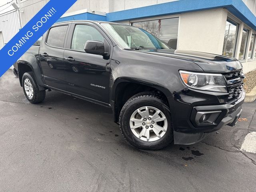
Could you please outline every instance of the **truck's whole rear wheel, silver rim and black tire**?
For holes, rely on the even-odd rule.
[[[33,72],[26,72],[22,76],[22,87],[30,103],[40,103],[45,98],[45,90],[39,90]]]

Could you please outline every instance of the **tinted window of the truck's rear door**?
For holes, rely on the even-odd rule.
[[[49,44],[50,46],[63,48],[67,29],[67,25],[50,28],[47,38],[47,44]]]

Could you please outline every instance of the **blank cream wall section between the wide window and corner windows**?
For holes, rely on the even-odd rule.
[[[222,8],[181,14],[178,49],[222,54],[226,20]]]

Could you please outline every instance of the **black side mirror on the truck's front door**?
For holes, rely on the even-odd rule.
[[[86,41],[84,45],[84,50],[86,53],[106,55],[104,43],[101,41]]]

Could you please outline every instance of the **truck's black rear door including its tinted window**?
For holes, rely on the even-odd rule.
[[[67,31],[68,24],[50,28],[46,32],[39,50],[39,59],[46,85],[60,90],[66,90],[63,54]]]

